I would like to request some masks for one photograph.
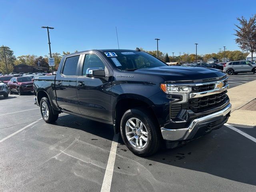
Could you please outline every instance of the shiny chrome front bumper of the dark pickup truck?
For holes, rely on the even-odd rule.
[[[218,120],[221,117],[226,116],[231,111],[231,104],[228,104],[224,109],[219,112],[194,119],[188,128],[183,129],[166,129],[164,127],[161,128],[162,136],[165,140],[170,141],[182,141],[182,140],[190,140],[194,138],[196,132],[198,132],[199,128],[205,126],[213,121]]]

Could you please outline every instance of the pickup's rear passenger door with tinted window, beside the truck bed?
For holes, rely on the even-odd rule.
[[[66,112],[79,114],[76,94],[76,79],[78,77],[82,54],[66,57],[64,64],[55,80],[56,100],[58,106]]]

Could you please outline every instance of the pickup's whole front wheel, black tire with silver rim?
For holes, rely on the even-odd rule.
[[[160,147],[162,140],[160,127],[152,119],[154,118],[142,108],[127,110],[122,116],[120,124],[122,139],[127,148],[137,156],[150,156]],[[129,132],[130,134],[127,135]],[[133,139],[128,141],[128,138]]]

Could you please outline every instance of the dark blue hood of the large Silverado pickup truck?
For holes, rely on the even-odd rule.
[[[221,70],[203,67],[182,67],[182,66],[163,66],[154,68],[142,68],[134,71],[140,74],[151,74],[162,76],[166,81],[176,83],[182,82],[205,82],[207,80],[218,80],[225,76]]]

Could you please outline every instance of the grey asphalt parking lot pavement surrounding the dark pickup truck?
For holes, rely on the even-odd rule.
[[[0,109],[0,191],[256,191],[256,142],[226,126],[140,158],[110,125],[69,114],[46,124],[33,94],[0,96]]]

